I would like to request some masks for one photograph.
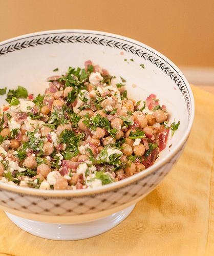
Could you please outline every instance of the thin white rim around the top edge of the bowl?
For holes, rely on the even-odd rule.
[[[7,183],[0,182],[0,189],[5,189],[12,191],[14,193],[22,193],[26,195],[31,195],[31,196],[45,196],[45,197],[81,197],[81,196],[89,196],[93,194],[102,194],[111,190],[116,190],[119,189],[120,187],[124,187],[126,185],[131,185],[134,182],[137,182],[138,180],[141,180],[142,178],[156,172],[160,167],[162,167],[164,164],[170,161],[179,151],[181,151],[184,143],[188,139],[189,133],[191,131],[192,123],[194,121],[194,116],[195,116],[195,101],[194,101],[194,96],[192,94],[191,88],[189,86],[189,83],[183,73],[180,71],[180,69],[171,61],[169,60],[166,56],[158,52],[157,50],[153,49],[152,47],[149,47],[145,44],[143,44],[140,41],[137,41],[135,39],[132,39],[130,37],[118,35],[118,34],[113,34],[109,32],[103,32],[103,31],[97,31],[97,30],[84,30],[84,29],[58,29],[58,30],[47,30],[47,31],[39,31],[39,32],[34,32],[34,33],[29,33],[29,34],[24,34],[20,36],[16,36],[7,40],[4,40],[0,42],[0,47],[4,46],[5,44],[8,44],[10,42],[20,40],[20,39],[25,39],[28,37],[33,37],[33,36],[39,36],[39,35],[47,35],[47,34],[60,34],[60,33],[87,33],[87,34],[93,34],[93,35],[99,35],[99,36],[110,36],[112,38],[117,38],[120,40],[124,40],[127,42],[131,42],[132,44],[138,45],[140,47],[143,47],[149,51],[154,52],[156,55],[158,55],[160,58],[164,59],[166,62],[168,62],[168,65],[171,66],[176,72],[180,75],[182,78],[183,82],[185,83],[189,97],[190,97],[190,102],[191,102],[191,112],[189,116],[189,121],[188,121],[188,126],[187,129],[182,136],[181,140],[177,145],[173,148],[172,151],[169,152],[167,156],[165,156],[163,159],[161,159],[159,162],[155,163],[154,165],[146,168],[144,172],[140,172],[138,174],[135,174],[131,177],[128,177],[124,180],[121,180],[119,182],[103,185],[98,188],[84,188],[84,189],[79,189],[79,190],[40,190],[40,189],[35,189],[35,188],[28,188],[28,187],[20,187],[20,186],[14,186],[10,185]]]

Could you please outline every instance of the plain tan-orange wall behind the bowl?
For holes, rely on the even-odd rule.
[[[214,1],[0,0],[0,41],[51,29],[132,37],[179,66],[214,67]]]

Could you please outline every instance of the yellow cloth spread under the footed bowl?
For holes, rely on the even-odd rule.
[[[0,252],[13,255],[214,255],[214,95],[192,86],[196,116],[177,165],[114,229],[80,241],[20,230],[0,211]]]

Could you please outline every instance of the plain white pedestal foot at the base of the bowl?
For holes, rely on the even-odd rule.
[[[57,224],[32,221],[5,212],[8,218],[19,228],[34,236],[52,240],[80,240],[91,238],[112,229],[129,216],[135,205],[110,216],[90,222],[77,224]]]

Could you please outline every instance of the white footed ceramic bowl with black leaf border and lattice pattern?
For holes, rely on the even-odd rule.
[[[42,191],[0,182],[0,207],[17,225],[32,233],[36,229],[41,237],[80,239],[118,224],[131,212],[132,205],[151,192],[178,160],[194,119],[191,89],[172,61],[141,42],[105,32],[56,30],[4,41],[0,44],[0,84],[9,89],[22,85],[29,93],[43,93],[46,77],[53,75],[53,69],[59,68],[60,74],[69,66],[83,67],[88,59],[110,74],[124,77],[129,97],[142,100],[151,93],[156,94],[161,103],[167,105],[170,121],[175,118],[181,124],[153,166],[116,183],[76,191]],[[104,219],[97,221],[100,218]],[[74,225],[89,221],[92,222]],[[60,230],[63,231],[58,231],[58,224],[47,222],[62,224]]]

